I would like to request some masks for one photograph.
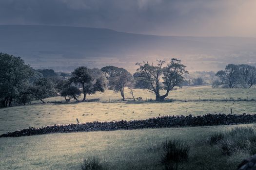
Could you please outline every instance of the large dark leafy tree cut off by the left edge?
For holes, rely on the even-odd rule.
[[[0,53],[0,105],[11,106],[28,86],[32,76],[32,68],[20,57]]]

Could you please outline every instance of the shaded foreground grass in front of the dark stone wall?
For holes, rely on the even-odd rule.
[[[225,155],[207,141],[211,134],[236,126],[143,129],[0,138],[0,169],[80,170],[84,158],[96,156],[109,170],[161,170],[163,153],[154,150],[167,139],[190,146],[182,170],[236,170],[247,152]]]

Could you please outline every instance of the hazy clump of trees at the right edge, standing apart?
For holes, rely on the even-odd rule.
[[[251,88],[256,85],[256,68],[247,64],[229,64],[216,76],[218,80],[213,83],[214,88]]]

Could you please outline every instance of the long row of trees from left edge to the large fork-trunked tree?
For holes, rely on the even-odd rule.
[[[68,102],[71,99],[86,101],[86,96],[103,92],[106,88],[120,92],[125,100],[124,88],[133,96],[134,88],[145,88],[156,95],[157,101],[163,101],[170,91],[184,82],[183,74],[188,73],[181,61],[173,58],[167,64],[157,60],[157,65],[148,62],[137,63],[137,72],[132,75],[124,68],[107,66],[101,69],[78,67],[71,74],[57,74],[52,69],[35,70],[26,65],[20,57],[0,53],[0,106],[26,104],[32,100],[45,103],[44,99],[62,96]],[[164,90],[164,94],[160,94]]]

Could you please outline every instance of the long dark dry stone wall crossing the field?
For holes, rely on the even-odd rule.
[[[18,137],[43,135],[51,133],[70,133],[70,132],[91,132],[91,131],[115,131],[132,130],[144,128],[169,128],[183,126],[214,126],[214,125],[233,125],[256,122],[256,114],[225,115],[207,114],[203,116],[163,116],[145,120],[121,120],[111,122],[87,122],[68,125],[45,126],[41,128],[29,127],[15,132],[7,132],[0,137]]]

